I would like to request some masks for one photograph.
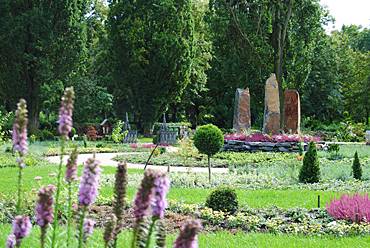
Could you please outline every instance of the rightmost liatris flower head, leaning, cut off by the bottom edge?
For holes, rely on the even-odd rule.
[[[185,223],[180,229],[174,248],[198,248],[197,234],[201,228],[202,225],[197,220]]]

